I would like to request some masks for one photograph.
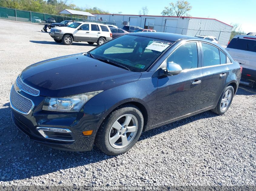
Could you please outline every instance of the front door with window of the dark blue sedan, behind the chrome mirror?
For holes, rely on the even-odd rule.
[[[198,52],[200,53],[199,44],[188,42],[179,46],[165,60],[166,64],[179,64],[182,72],[158,79],[154,124],[195,111],[202,84],[201,56],[198,56]]]

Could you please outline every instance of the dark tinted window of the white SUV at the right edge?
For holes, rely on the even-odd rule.
[[[256,40],[233,38],[227,48],[256,52]]]

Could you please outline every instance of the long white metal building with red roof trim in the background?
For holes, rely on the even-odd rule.
[[[207,35],[218,39],[219,44],[227,45],[232,26],[213,18],[172,17],[152,15],[94,14],[95,20],[115,24],[154,29],[157,32],[185,34],[189,36]]]

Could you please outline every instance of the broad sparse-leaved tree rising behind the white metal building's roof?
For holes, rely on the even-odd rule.
[[[165,7],[161,12],[163,16],[190,16],[188,12],[192,9],[190,3],[184,0],[177,1],[176,3],[169,3],[170,7]]]

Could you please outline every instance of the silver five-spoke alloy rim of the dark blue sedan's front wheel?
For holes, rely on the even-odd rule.
[[[124,148],[136,136],[138,120],[132,114],[120,116],[112,125],[108,141],[113,148]]]

